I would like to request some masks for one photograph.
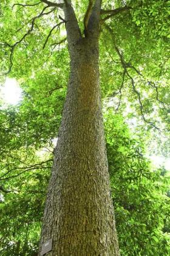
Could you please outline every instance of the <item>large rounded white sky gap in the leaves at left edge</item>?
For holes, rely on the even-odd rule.
[[[5,84],[1,87],[0,93],[2,101],[6,104],[16,105],[21,101],[22,90],[16,79],[7,77]]]

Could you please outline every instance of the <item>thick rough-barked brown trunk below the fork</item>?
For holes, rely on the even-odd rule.
[[[41,244],[46,255],[119,255],[101,114],[98,51],[84,43],[71,60]]]

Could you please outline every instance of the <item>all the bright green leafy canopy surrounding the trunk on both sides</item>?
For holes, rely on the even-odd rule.
[[[90,2],[72,1],[83,36]],[[38,248],[69,77],[62,4],[0,3],[1,82],[15,77],[22,88],[18,105],[1,102],[4,256],[36,255]],[[121,255],[169,255],[169,174],[151,167],[144,144],[156,140],[168,155],[170,2],[103,1],[101,8],[101,94]]]

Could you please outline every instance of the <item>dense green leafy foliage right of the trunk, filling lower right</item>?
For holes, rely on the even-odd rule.
[[[121,255],[169,255],[167,196],[169,177],[151,169],[141,141],[132,137],[121,116],[106,116],[115,219]],[[166,223],[166,225],[165,225]]]

